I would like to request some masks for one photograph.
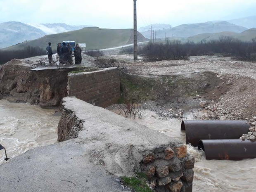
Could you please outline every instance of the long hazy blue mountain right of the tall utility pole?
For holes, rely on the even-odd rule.
[[[238,26],[231,24],[227,21],[209,21],[206,23],[197,23],[197,24],[183,24],[175,26],[173,28],[167,28],[156,31],[156,38],[164,39],[165,37],[173,38],[187,38],[194,36],[200,33],[218,33],[222,31],[230,31],[235,33],[241,33],[242,31],[247,30],[243,26]],[[150,31],[141,32],[146,38],[150,38]]]

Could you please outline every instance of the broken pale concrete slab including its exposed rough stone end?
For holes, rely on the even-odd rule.
[[[90,145],[93,161],[113,175],[142,172],[156,191],[192,191],[194,157],[186,145],[107,109],[64,97],[58,135]]]

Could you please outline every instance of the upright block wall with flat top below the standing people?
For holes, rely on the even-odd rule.
[[[120,78],[116,67],[93,72],[68,74],[69,97],[99,107],[108,107],[117,103],[120,97]]]

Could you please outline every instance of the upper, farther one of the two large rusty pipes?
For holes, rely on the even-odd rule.
[[[198,146],[205,139],[238,139],[248,133],[247,121],[191,121],[183,120],[180,130],[186,131],[186,142]]]

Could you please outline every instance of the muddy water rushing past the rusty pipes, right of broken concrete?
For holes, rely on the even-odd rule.
[[[178,119],[166,119],[146,110],[142,119],[134,121],[186,143],[186,133],[180,131]],[[197,147],[187,145],[187,151],[195,157],[194,192],[256,192],[256,159],[206,160],[204,151]]]

